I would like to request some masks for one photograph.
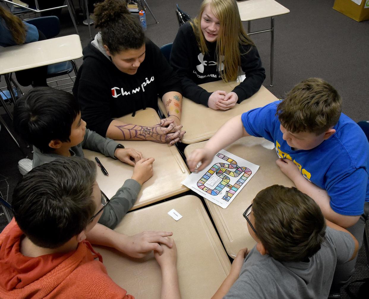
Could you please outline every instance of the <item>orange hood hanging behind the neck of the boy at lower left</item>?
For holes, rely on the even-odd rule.
[[[0,297],[3,294],[14,298],[27,296],[44,297],[60,287],[66,278],[81,264],[101,259],[93,255],[89,242],[81,242],[75,251],[69,253],[45,254],[26,257],[20,252],[24,233],[14,218],[0,235]],[[95,253],[93,251],[93,253]],[[102,260],[101,260],[102,261]]]

